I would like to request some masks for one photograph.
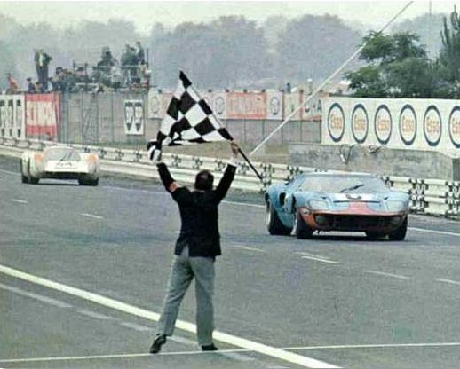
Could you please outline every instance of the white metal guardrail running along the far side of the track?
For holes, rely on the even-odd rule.
[[[33,139],[0,137],[0,155],[20,157],[26,150],[42,151],[55,142]],[[87,153],[98,153],[101,170],[126,176],[158,178],[157,171],[147,158],[147,152],[141,150],[122,150],[114,147],[91,145],[72,145]],[[219,179],[226,168],[225,159],[198,157],[163,153],[172,175],[178,182],[193,183],[197,170],[209,169]],[[266,186],[274,182],[287,181],[300,173],[324,171],[309,167],[254,162],[264,181],[261,183],[245,162],[238,165],[233,188],[250,192],[263,192]],[[422,179],[397,176],[385,176],[385,181],[394,189],[408,192],[413,213],[435,216],[460,217],[460,182],[441,179]]]

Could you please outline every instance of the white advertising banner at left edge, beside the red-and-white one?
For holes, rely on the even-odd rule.
[[[0,137],[25,138],[23,95],[0,95]]]

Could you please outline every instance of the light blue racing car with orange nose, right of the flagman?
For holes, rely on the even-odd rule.
[[[402,240],[409,196],[381,177],[355,173],[305,173],[266,189],[270,234],[309,239],[313,232],[365,232],[369,239]]]

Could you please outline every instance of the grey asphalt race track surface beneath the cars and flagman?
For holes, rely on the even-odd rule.
[[[190,290],[148,355],[178,225],[158,184],[22,185],[0,157],[0,367],[458,367],[460,224],[411,216],[403,242],[274,237],[242,192],[220,208],[221,350],[198,350]]]

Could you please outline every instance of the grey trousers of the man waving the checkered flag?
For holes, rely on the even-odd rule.
[[[214,329],[214,259],[210,257],[174,256],[168,291],[164,297],[163,311],[156,327],[156,334],[172,335],[178,318],[180,302],[194,279],[196,297],[196,326],[198,344],[212,343]]]

